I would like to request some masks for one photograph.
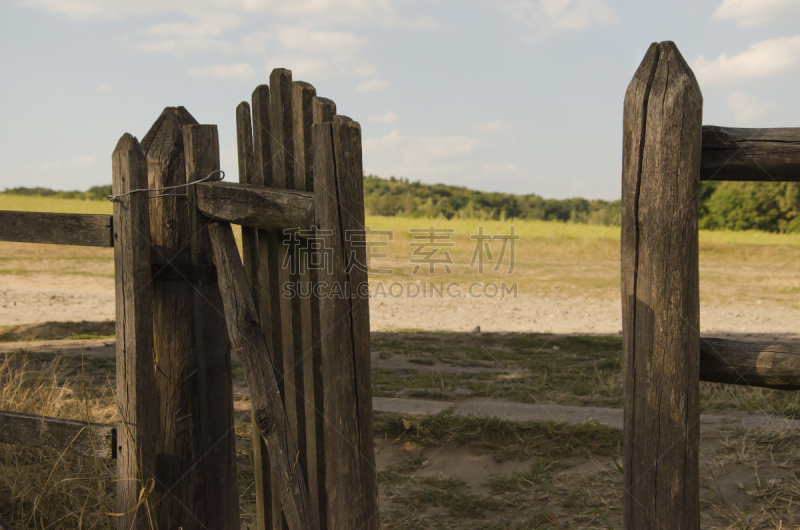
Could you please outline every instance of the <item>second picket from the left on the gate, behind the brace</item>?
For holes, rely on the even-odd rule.
[[[259,85],[253,91],[252,110],[253,110],[253,170],[247,172],[250,184],[262,186],[272,185],[272,144],[270,140],[270,103],[269,87]],[[239,128],[245,127],[244,120]],[[246,132],[240,135],[245,137]],[[240,169],[241,171],[241,169]],[[240,173],[241,180],[241,173]],[[264,230],[256,230],[253,234],[253,244],[250,245],[251,255],[249,257],[248,268],[250,269],[250,285],[253,289],[254,303],[259,314],[261,330],[267,340],[269,351],[272,356],[272,365],[276,374],[282,373],[283,358],[278,359],[276,352],[282,351],[280,328],[273,330],[273,307],[278,308],[278,278],[277,275],[269,274],[270,270],[276,270],[278,266],[277,255],[270,254],[270,248],[274,248],[276,238]],[[252,254],[255,250],[255,255]],[[278,309],[276,309],[277,311]],[[280,313],[278,313],[279,315]],[[272,472],[270,471],[269,451],[264,439],[259,434],[258,425],[253,419],[253,465],[256,481],[256,528],[267,530],[273,527],[273,499],[276,494],[272,490]]]

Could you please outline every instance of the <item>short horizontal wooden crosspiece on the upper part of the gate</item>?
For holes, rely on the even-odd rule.
[[[305,191],[235,182],[203,182],[194,187],[197,207],[217,221],[278,232],[308,230],[314,223],[314,197]]]

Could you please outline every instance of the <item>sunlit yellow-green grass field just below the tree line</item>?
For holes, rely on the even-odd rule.
[[[0,209],[78,213],[110,213],[106,201],[83,201],[20,197],[0,194]],[[366,219],[372,230],[390,230],[393,239],[385,249],[386,258],[375,257],[373,268],[391,269],[394,281],[455,281],[466,284],[484,281],[516,281],[521,293],[532,296],[575,296],[604,300],[619,299],[619,228],[545,221],[478,221],[463,219],[410,219],[375,217]],[[509,234],[510,226],[520,236],[515,246],[514,270],[508,274],[507,252],[498,272],[487,261],[483,274],[470,262],[479,226],[485,234]],[[441,265],[435,274],[427,266],[413,273],[411,262],[415,248],[409,229],[452,229],[450,248],[452,274]],[[376,238],[377,239],[377,238]],[[500,242],[490,247],[495,260]],[[772,234],[758,231],[700,232],[700,295],[703,303],[775,304],[800,308],[800,234]],[[113,274],[110,249],[55,247],[0,243],[0,274],[30,275],[50,272],[65,275]],[[389,278],[373,274],[372,281]]]

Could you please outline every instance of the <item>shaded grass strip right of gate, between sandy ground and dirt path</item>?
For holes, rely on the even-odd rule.
[[[454,401],[493,397],[520,403],[622,406],[622,338],[537,333],[377,332],[373,351],[414,364],[487,371],[374,367],[373,394]],[[494,370],[494,371],[490,371]],[[465,392],[467,391],[467,392]],[[740,409],[800,418],[800,391],[700,383],[704,411]]]

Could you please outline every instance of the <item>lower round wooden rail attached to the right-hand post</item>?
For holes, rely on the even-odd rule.
[[[701,339],[700,380],[800,390],[800,347]]]

